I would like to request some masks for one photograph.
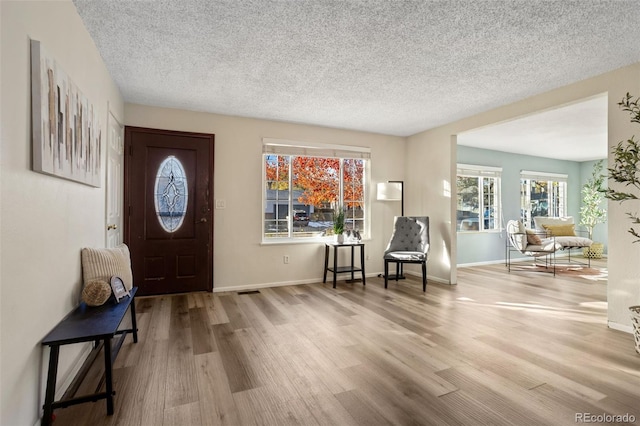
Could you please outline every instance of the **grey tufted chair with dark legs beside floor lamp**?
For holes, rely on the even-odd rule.
[[[427,260],[429,256],[429,217],[396,216],[393,235],[384,252],[384,288],[389,279],[389,263],[396,264],[396,281],[405,263],[422,266],[422,291],[427,291]]]

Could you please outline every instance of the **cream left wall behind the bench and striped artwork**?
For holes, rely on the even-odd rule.
[[[104,172],[102,188],[92,188],[31,171],[30,38],[42,42],[97,108],[103,138],[107,104],[121,119],[124,104],[71,1],[2,1],[0,7],[0,424],[33,425],[48,362],[40,341],[79,301],[81,248],[104,247],[105,191]],[[59,383],[84,348],[61,351]]]

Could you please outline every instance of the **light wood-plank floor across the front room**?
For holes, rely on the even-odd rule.
[[[426,293],[419,279],[385,290],[371,278],[139,298],[114,415],[100,401],[56,410],[55,425],[640,422],[640,355],[606,326],[606,278],[504,265],[458,276]]]

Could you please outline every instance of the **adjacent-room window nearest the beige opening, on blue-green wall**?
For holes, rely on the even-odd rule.
[[[458,164],[456,177],[458,231],[500,229],[499,167]]]

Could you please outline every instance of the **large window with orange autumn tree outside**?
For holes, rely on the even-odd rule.
[[[263,142],[264,241],[328,235],[340,206],[345,230],[366,235],[368,149]]]

